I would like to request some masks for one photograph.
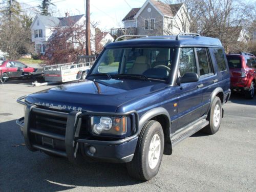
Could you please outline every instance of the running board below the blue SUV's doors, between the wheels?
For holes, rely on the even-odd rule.
[[[209,124],[209,121],[206,120],[206,115],[201,117],[199,120],[193,123],[188,124],[183,129],[178,130],[177,132],[170,135],[170,141],[172,142],[172,146],[175,146],[182,140],[190,137],[191,135],[197,133],[199,130],[203,129],[206,125]]]

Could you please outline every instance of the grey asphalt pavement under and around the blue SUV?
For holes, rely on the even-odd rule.
[[[158,175],[131,179],[124,164],[73,165],[65,158],[30,152],[15,120],[16,99],[53,86],[31,81],[0,84],[0,191],[256,191],[256,97],[232,95],[215,135],[196,133],[163,156]]]

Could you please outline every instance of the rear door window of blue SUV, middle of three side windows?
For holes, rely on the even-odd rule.
[[[200,75],[212,73],[212,67],[206,48],[196,48]]]

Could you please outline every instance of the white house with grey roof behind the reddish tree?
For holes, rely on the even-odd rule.
[[[70,25],[83,24],[86,20],[85,15],[69,16],[66,13],[66,17],[52,17],[45,15],[36,15],[31,29],[31,40],[35,43],[35,50],[37,53],[45,54],[46,42],[51,37],[54,28],[67,27]],[[86,26],[84,26],[85,28]],[[95,28],[91,25],[91,49],[95,51]],[[76,45],[74,45],[76,46]]]

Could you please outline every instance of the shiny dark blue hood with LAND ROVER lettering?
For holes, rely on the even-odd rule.
[[[86,80],[37,92],[29,103],[62,111],[116,112],[119,105],[164,89],[166,83],[141,80]],[[136,109],[135,109],[136,110]]]

